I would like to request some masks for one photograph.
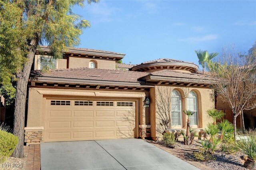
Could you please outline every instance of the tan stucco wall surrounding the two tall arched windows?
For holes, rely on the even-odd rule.
[[[185,110],[187,108],[186,104],[186,96],[188,93],[192,90],[197,95],[197,102],[198,102],[198,126],[192,126],[193,128],[206,128],[207,124],[209,122],[212,122],[206,114],[206,110],[214,108],[214,90],[209,88],[197,88],[197,87],[183,87],[180,88],[179,86],[155,86],[155,88],[150,90],[150,96],[155,94],[155,100],[160,100],[162,98],[163,90],[167,90],[168,92],[172,92],[172,90],[178,90],[181,94],[181,100],[182,100],[182,110]],[[153,105],[153,103],[151,102]],[[155,111],[154,108],[155,107]],[[165,128],[161,125],[162,118],[160,117],[160,114],[158,113],[158,107],[156,106],[156,103],[154,103],[154,106],[151,106],[152,110],[150,111],[150,120],[151,125],[155,124],[154,126],[151,126],[151,136],[153,139],[156,137],[162,137],[162,132],[164,132]],[[155,123],[153,123],[155,121]],[[186,117],[184,113],[182,113],[182,126],[173,126],[172,128],[185,128],[186,126]]]

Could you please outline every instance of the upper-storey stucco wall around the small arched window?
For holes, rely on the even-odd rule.
[[[69,58],[69,68],[80,68],[89,67],[90,61],[96,62],[96,68],[103,69],[116,69],[116,61],[114,60],[98,60],[94,58],[80,58],[80,57],[70,57]]]

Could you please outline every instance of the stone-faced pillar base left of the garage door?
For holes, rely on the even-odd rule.
[[[42,142],[42,135],[44,127],[25,127],[25,137],[24,142],[28,144],[30,143],[38,143]]]

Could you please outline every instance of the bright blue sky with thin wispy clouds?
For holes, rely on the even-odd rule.
[[[247,52],[256,40],[256,1],[102,0],[74,12],[91,24],[79,47],[125,53],[124,63],[198,64],[194,50]]]

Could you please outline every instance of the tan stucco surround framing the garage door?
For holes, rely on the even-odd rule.
[[[78,95],[80,94],[80,95]],[[29,88],[28,116],[26,128],[37,130],[46,126],[47,100],[100,100],[100,101],[134,101],[136,102],[136,137],[139,135],[139,125],[150,123],[149,109],[144,108],[143,101],[148,96],[147,91],[124,92],[103,90],[73,90],[52,88]],[[44,131],[42,141],[45,140]]]

